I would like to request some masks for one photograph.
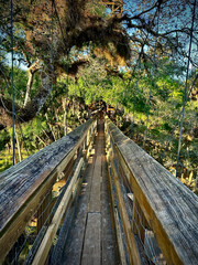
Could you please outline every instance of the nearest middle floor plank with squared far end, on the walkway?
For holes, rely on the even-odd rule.
[[[88,213],[81,265],[101,264],[101,213]]]

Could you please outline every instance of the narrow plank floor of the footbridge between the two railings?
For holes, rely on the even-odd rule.
[[[99,121],[89,158],[76,215],[62,253],[62,264],[119,264],[112,227],[105,155],[103,121]]]

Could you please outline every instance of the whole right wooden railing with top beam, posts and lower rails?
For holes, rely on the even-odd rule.
[[[121,263],[125,241],[130,264],[198,264],[198,198],[108,118],[106,138]]]

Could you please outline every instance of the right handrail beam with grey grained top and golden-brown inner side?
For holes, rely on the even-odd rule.
[[[138,204],[154,232],[167,263],[198,264],[198,198],[196,194],[124,136],[110,119],[106,119],[106,130],[111,146],[110,160],[113,162],[117,157],[118,167],[122,168],[133,192],[133,212]],[[114,166],[112,169],[116,171]],[[117,179],[118,176],[114,180]],[[132,223],[134,219],[135,214]],[[131,229],[135,234],[133,224]],[[134,241],[134,237],[131,240]],[[134,254],[136,255],[133,253],[133,256]]]

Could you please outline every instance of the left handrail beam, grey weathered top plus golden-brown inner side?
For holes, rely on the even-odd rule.
[[[88,120],[0,174],[0,261],[77,150],[88,146],[95,128],[96,121]]]

